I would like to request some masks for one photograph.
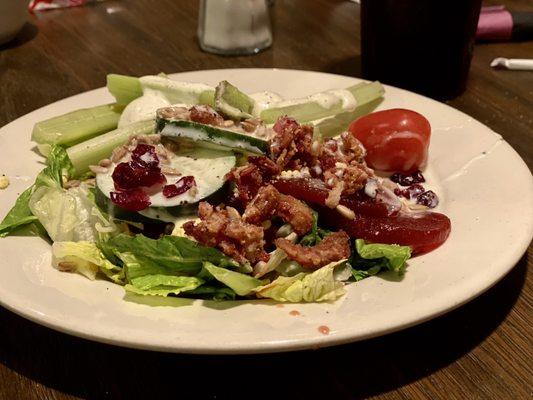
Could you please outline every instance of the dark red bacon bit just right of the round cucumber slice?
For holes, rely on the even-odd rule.
[[[248,164],[232,169],[226,180],[234,182],[237,187],[237,199],[242,204],[248,204],[259,188],[279,175],[281,169],[265,156],[250,156]]]

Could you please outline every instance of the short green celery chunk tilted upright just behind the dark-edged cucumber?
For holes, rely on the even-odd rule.
[[[215,89],[215,109],[232,119],[251,118],[255,101],[228,81]]]

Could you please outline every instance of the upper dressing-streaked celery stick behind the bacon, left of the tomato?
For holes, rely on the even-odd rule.
[[[375,100],[383,96],[384,93],[379,82],[360,83],[346,90],[354,96],[357,106]],[[325,101],[319,101],[319,98],[323,98]],[[317,93],[306,99],[295,100],[293,104],[268,108],[261,112],[260,117],[266,123],[274,123],[283,115],[293,117],[299,122],[309,122],[348,111],[352,110],[344,108],[342,97],[330,91]]]

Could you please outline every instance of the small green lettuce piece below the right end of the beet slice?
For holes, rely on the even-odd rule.
[[[365,243],[363,239],[355,241],[355,252],[350,259],[352,275],[356,281],[376,275],[382,270],[403,274],[406,262],[411,257],[409,246],[397,244]]]

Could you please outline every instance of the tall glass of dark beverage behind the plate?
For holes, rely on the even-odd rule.
[[[481,0],[362,0],[363,77],[446,100],[466,87]]]

